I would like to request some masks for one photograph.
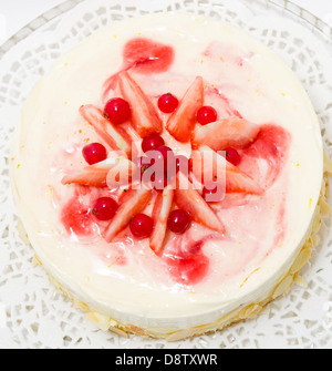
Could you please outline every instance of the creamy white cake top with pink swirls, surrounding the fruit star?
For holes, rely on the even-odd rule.
[[[245,123],[248,132],[236,136],[245,132],[250,142],[235,144],[241,156],[236,172],[249,179],[241,177],[238,188],[234,181],[221,202],[209,204],[224,229],[206,225],[210,214],[204,208],[184,234],[167,233],[159,254],[129,227],[107,240],[110,223],[96,220],[92,205],[102,196],[120,202],[123,193],[63,184],[87,165],[86,144],[107,147],[89,117],[110,99],[123,97],[121,86],[132,81],[156,110],[160,95],[172,92],[181,104],[201,83],[204,105],[215,107],[219,121]],[[196,124],[187,140],[167,126],[170,114],[158,115],[159,134],[176,155],[225,150],[218,147],[218,127],[206,135],[209,124]],[[141,145],[137,127],[123,130]],[[59,60],[25,104],[14,157],[19,209],[45,268],[103,312],[155,318],[222,311],[272,288],[301,248],[323,167],[318,120],[281,60],[239,29],[185,14],[116,23]],[[226,172],[226,184],[231,174]],[[146,215],[153,215],[158,194],[151,192]],[[173,207],[186,208],[186,195],[177,195]]]

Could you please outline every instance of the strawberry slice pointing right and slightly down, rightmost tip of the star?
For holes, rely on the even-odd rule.
[[[260,195],[263,189],[237,166],[208,146],[193,151],[193,173],[198,181],[220,182],[226,193],[247,193]]]

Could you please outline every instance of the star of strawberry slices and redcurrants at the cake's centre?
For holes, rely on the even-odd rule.
[[[212,206],[228,193],[263,193],[238,167],[239,151],[255,142],[259,125],[242,118],[227,100],[225,116],[218,117],[212,106],[204,105],[201,76],[194,79],[183,97],[162,94],[157,104],[129,72],[120,72],[116,83],[122,96],[108,100],[103,109],[80,109],[107,148],[102,143],[84,146],[87,165],[64,176],[63,185],[121,193],[118,202],[102,197],[91,205],[94,216],[108,223],[103,230],[107,243],[129,228],[134,238],[148,238],[159,255],[167,233],[181,235],[193,221],[226,234]],[[165,143],[165,131],[179,143],[190,143],[191,155],[177,155]],[[138,156],[133,150],[137,143]],[[152,212],[144,213],[152,200]]]

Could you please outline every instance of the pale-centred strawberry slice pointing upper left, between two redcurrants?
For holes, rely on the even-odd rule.
[[[125,131],[120,126],[115,128],[115,126],[104,117],[100,109],[92,104],[82,105],[80,113],[113,151],[121,151],[127,155],[131,154],[132,145],[129,136],[127,136]]]

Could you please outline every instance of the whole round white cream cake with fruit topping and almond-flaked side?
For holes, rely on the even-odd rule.
[[[242,30],[189,14],[116,22],[63,55],[12,157],[37,260],[123,336],[175,341],[257,316],[297,281],[328,213],[297,78]]]

